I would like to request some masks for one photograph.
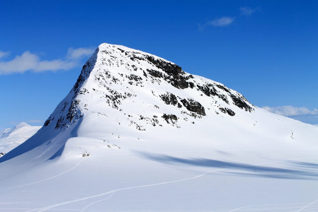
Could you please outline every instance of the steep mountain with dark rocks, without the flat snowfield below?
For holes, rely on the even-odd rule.
[[[245,133],[258,129],[256,138],[266,137],[264,127],[271,125],[273,132],[281,132],[275,127],[278,120],[286,127],[284,136],[297,140],[299,133],[286,124],[294,126],[293,121],[253,106],[221,83],[146,52],[101,44],[38,133],[1,160],[26,157],[41,163],[114,148],[157,151],[163,143],[172,149],[192,145],[202,149],[220,137],[228,145],[247,145],[231,136],[245,139]],[[268,145],[276,144],[272,140]]]

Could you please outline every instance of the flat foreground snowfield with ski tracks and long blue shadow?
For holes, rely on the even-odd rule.
[[[21,173],[23,178],[3,180],[1,202],[9,203],[1,209],[297,211],[318,199],[316,162],[316,149],[114,150],[50,161]]]

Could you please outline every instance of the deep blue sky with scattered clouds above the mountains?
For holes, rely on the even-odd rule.
[[[0,1],[0,129],[42,125],[101,43],[318,124],[318,1]]]

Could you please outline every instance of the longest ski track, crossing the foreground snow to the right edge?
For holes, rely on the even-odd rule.
[[[227,170],[227,169],[243,168],[243,167],[257,166],[257,165],[262,165],[262,164],[279,163],[279,162],[285,162],[285,161],[297,161],[297,160],[303,160],[303,159],[318,159],[318,158],[317,158],[317,157],[311,157],[311,158],[295,158],[295,159],[287,159],[287,160],[282,160],[282,161],[264,162],[264,163],[257,163],[257,164],[252,164],[252,165],[246,165],[246,166],[238,166],[238,167],[232,167],[232,168],[216,169],[216,170],[213,170],[213,171],[208,171],[208,172],[205,172],[205,173],[203,173],[203,174],[197,175],[197,176],[195,176],[195,177],[185,178],[185,179],[176,180],[176,181],[168,181],[168,182],[161,182],[161,183],[149,184],[149,185],[134,186],[134,187],[128,187],[128,188],[120,188],[120,189],[108,191],[108,192],[105,192],[105,193],[101,193],[101,194],[98,194],[98,195],[93,195],[93,196],[88,196],[88,197],[84,197],[84,198],[77,199],[77,200],[62,202],[62,203],[59,203],[59,204],[47,206],[47,207],[44,207],[44,208],[29,210],[29,211],[26,211],[26,212],[31,212],[31,211],[35,211],[35,210],[38,210],[38,212],[42,212],[42,211],[45,211],[45,210],[47,210],[47,209],[51,209],[51,208],[54,208],[54,207],[57,207],[57,206],[60,206],[60,205],[65,205],[65,204],[72,203],[72,202],[78,202],[78,201],[82,201],[82,200],[86,200],[86,199],[90,199],[90,198],[94,198],[94,197],[99,197],[99,196],[107,195],[107,194],[110,194],[110,193],[113,193],[113,192],[116,192],[116,191],[127,190],[127,189],[133,189],[133,188],[143,188],[143,187],[163,185],[163,184],[168,184],[168,183],[173,183],[173,182],[186,181],[186,180],[191,180],[191,179],[195,179],[195,178],[202,177],[202,176],[204,176],[205,174],[208,174],[208,173],[213,173],[213,172],[222,171],[222,170]],[[318,201],[318,200],[316,200],[316,201]],[[316,201],[315,201],[315,202],[316,202]],[[310,203],[309,205],[311,205],[311,204],[313,204],[313,203],[315,203],[315,202],[312,202],[312,203]],[[309,205],[308,205],[308,206],[309,206]],[[307,206],[305,206],[304,208],[306,208],[306,207],[307,207]],[[304,209],[304,208],[303,208],[303,209]],[[300,209],[300,210],[302,210],[302,209]],[[298,210],[298,211],[300,211],[300,210]]]

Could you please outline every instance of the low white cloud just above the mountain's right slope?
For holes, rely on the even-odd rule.
[[[276,114],[282,115],[282,116],[305,116],[305,115],[315,116],[315,115],[318,115],[317,108],[315,108],[313,110],[309,110],[307,107],[294,107],[294,106],[279,106],[279,107],[263,106],[262,108],[271,112],[271,113],[276,113]]]

